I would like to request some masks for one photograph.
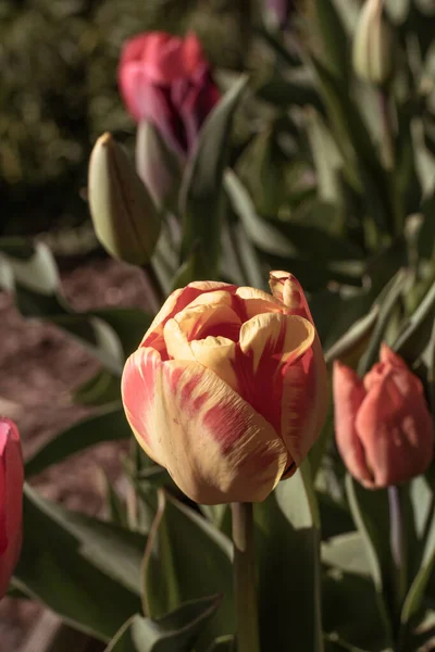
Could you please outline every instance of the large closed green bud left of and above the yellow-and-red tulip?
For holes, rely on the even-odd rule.
[[[160,216],[124,149],[101,136],[89,162],[90,214],[98,240],[113,258],[149,262],[160,235]]]

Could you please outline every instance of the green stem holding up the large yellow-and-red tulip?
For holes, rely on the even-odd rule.
[[[237,652],[260,652],[252,503],[232,503]]]

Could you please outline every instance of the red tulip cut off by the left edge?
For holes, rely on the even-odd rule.
[[[0,598],[21,551],[23,482],[18,430],[10,419],[0,418]]]

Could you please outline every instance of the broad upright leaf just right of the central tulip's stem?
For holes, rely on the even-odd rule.
[[[254,521],[261,649],[322,651],[320,524],[307,464],[254,505]]]

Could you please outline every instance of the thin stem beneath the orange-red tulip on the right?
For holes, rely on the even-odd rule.
[[[402,490],[400,487],[388,487],[389,541],[394,563],[394,591],[399,623],[400,612],[408,588],[407,541],[402,498]]]

